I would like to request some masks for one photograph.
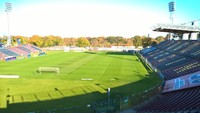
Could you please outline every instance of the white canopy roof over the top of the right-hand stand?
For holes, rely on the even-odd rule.
[[[191,25],[172,25],[172,24],[157,24],[153,26],[153,31],[171,32],[171,33],[198,33],[200,27]]]

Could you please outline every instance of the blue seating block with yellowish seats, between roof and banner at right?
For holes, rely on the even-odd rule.
[[[156,49],[153,51],[141,54],[167,80],[200,70],[198,64],[194,66],[188,64],[200,60],[200,41],[165,41],[161,45],[155,46]],[[178,67],[179,71],[173,70]]]

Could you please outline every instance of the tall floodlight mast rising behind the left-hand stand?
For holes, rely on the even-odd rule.
[[[5,3],[5,6],[6,6],[6,10],[5,12],[7,13],[7,23],[8,23],[8,39],[7,39],[7,46],[10,46],[11,45],[11,37],[10,37],[10,25],[9,25],[9,14],[8,12],[11,12],[12,10],[12,4],[9,3],[9,2],[6,2]]]

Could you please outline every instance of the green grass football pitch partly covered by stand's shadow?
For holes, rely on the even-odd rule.
[[[39,67],[57,67],[59,73]],[[20,113],[71,106],[132,95],[160,83],[158,76],[133,54],[120,52],[63,52],[0,62],[0,112]]]

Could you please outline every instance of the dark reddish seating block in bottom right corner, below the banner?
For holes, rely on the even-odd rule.
[[[193,87],[160,94],[157,99],[138,110],[146,112],[198,112],[200,110],[200,87]]]

